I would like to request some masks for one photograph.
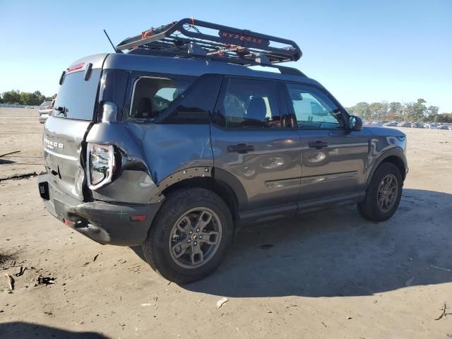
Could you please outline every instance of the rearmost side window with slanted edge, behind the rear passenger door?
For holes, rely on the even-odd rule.
[[[139,78],[133,88],[129,117],[132,119],[159,117],[193,81],[193,77],[186,76]]]

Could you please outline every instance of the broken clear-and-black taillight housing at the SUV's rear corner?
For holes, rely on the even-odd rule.
[[[90,189],[98,189],[112,182],[114,172],[113,145],[88,143],[86,177]]]

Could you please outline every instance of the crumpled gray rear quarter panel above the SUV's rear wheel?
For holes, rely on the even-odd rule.
[[[101,201],[149,203],[157,185],[175,172],[213,167],[208,124],[95,124],[88,143],[116,146],[121,164],[114,180],[93,191]]]

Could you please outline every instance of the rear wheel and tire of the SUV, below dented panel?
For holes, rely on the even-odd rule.
[[[232,216],[225,201],[208,189],[170,192],[155,216],[143,254],[149,265],[174,283],[210,275],[232,242]]]

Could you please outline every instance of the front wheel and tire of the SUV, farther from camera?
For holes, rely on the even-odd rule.
[[[359,213],[371,221],[388,220],[396,213],[402,196],[403,179],[391,162],[383,162],[371,179],[364,201],[358,203]]]

